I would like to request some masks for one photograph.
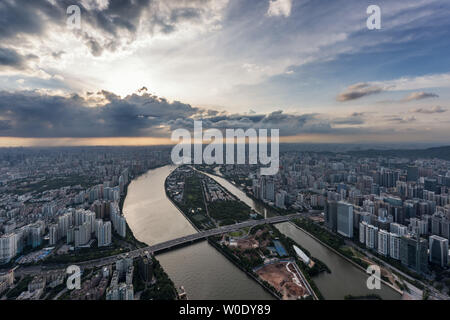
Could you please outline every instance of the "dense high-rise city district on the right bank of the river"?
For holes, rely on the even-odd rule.
[[[275,176],[256,166],[222,168],[278,208],[324,210],[325,225],[419,273],[447,267],[450,162],[285,152]]]

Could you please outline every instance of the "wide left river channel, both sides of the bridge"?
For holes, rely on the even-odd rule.
[[[128,187],[124,215],[135,237],[148,245],[196,232],[166,197],[164,181],[174,168],[150,170]],[[175,285],[184,286],[189,299],[273,299],[206,241],[157,258]]]

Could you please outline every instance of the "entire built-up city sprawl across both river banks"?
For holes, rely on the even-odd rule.
[[[0,299],[155,298],[158,281],[164,297],[176,298],[152,253],[127,257],[145,245],[122,213],[131,180],[170,164],[169,156],[167,147],[0,150]],[[195,167],[233,182],[277,215],[301,213],[299,227],[360,266],[380,263],[389,270],[383,280],[397,289],[413,286],[448,299],[450,161],[289,151],[281,152],[274,176],[260,175],[258,165]],[[180,203],[186,184],[207,194],[205,208],[191,204],[198,229],[262,218],[245,207],[224,217],[217,203],[234,197],[212,179],[195,177],[191,169],[175,171],[166,190]],[[82,288],[67,291],[63,266],[117,255],[83,270]]]

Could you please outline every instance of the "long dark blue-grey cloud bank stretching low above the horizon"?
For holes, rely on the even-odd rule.
[[[4,137],[169,137],[174,129],[191,130],[195,120],[202,120],[205,129],[280,129],[282,136],[364,130],[334,128],[332,121],[317,114],[275,111],[242,115],[199,109],[179,101],[168,102],[142,89],[141,94],[125,98],[108,91],[90,93],[87,98],[2,91],[0,119],[0,136]]]

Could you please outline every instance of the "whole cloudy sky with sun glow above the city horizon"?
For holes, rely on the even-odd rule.
[[[195,120],[448,144],[449,18],[446,0],[2,0],[0,146],[166,144]]]

